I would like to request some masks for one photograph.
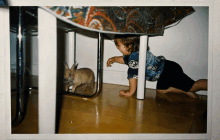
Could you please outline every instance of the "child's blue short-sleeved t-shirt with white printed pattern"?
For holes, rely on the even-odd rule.
[[[132,52],[130,55],[123,56],[124,62],[128,65],[128,76],[127,78],[138,78],[138,62],[139,53]],[[146,68],[145,68],[145,80],[157,81],[163,71],[164,56],[154,56],[150,51],[147,51]]]

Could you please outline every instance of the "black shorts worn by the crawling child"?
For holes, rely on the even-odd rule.
[[[176,62],[166,60],[163,72],[157,81],[157,89],[165,90],[169,87],[189,91],[195,81],[187,76],[182,67]]]

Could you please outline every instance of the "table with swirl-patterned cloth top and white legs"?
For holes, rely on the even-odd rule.
[[[164,30],[194,12],[192,7],[38,7],[39,38],[39,133],[55,133],[57,18],[77,28],[98,32],[97,83],[98,96],[102,83],[103,34],[140,35],[137,99],[144,99],[145,62],[148,36],[163,35]],[[69,46],[74,44],[69,32]],[[72,54],[74,56],[74,49]],[[50,53],[48,53],[50,52]],[[69,57],[68,65],[74,63]],[[21,75],[20,75],[21,76]],[[20,87],[21,88],[21,87]]]

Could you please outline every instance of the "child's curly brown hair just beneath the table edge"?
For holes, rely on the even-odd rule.
[[[115,35],[114,40],[116,43],[116,39],[120,39],[121,43],[128,48],[129,52],[138,52],[139,44],[140,44],[140,36],[139,35]],[[117,45],[117,44],[115,44]],[[131,45],[131,47],[129,47]],[[149,46],[147,46],[147,50],[150,50]]]

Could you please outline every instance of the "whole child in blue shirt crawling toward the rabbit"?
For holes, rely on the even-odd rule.
[[[140,36],[115,35],[114,42],[123,56],[109,58],[107,66],[113,63],[128,65],[129,90],[121,90],[119,96],[131,97],[137,89],[138,59]],[[157,81],[157,93],[184,93],[192,98],[198,98],[195,93],[207,90],[207,79],[192,80],[176,62],[166,60],[164,56],[154,56],[147,48],[145,79]]]

